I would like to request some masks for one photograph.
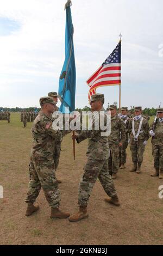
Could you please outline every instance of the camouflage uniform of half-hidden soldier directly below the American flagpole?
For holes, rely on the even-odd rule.
[[[123,110],[124,108],[121,108],[121,109]],[[124,110],[126,110],[126,109],[124,109]],[[126,126],[126,141],[123,142],[122,147],[120,147],[120,166],[121,166],[121,164],[126,163],[126,157],[127,157],[126,149],[128,147],[128,139],[129,139],[128,128],[129,128],[129,120],[130,120],[128,116],[123,117],[123,115],[121,115],[121,119],[123,120],[123,122]]]

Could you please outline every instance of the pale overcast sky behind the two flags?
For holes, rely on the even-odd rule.
[[[58,92],[64,63],[66,0],[0,0],[0,107],[39,107]],[[121,106],[163,106],[163,1],[72,0],[76,107],[88,105],[87,78],[122,34]],[[160,54],[159,54],[160,53]],[[105,107],[119,88],[102,87]]]

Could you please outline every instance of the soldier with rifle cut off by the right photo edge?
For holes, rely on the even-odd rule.
[[[157,109],[156,123],[151,124],[149,135],[152,136],[152,155],[155,172],[151,176],[163,179],[163,108]],[[153,131],[154,130],[154,131]]]

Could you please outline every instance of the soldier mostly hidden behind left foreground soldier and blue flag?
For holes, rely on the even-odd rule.
[[[58,102],[57,92],[50,92],[50,93],[48,93],[48,96],[52,97],[55,102]],[[59,107],[56,106],[55,111],[59,111]],[[59,164],[61,142],[62,142],[62,136],[60,138],[58,138],[57,141],[55,142],[55,148],[54,148],[55,170],[57,170],[58,164]],[[61,183],[61,180],[57,179],[57,181],[58,181],[58,183]]]

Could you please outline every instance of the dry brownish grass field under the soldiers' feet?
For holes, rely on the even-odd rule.
[[[105,193],[99,181],[93,188],[89,218],[78,223],[51,220],[50,209],[43,192],[37,198],[40,210],[26,217],[26,197],[29,181],[29,153],[32,144],[31,123],[22,127],[20,114],[11,113],[11,123],[0,121],[0,199],[1,245],[162,245],[163,199],[158,187],[163,180],[150,176],[153,170],[151,140],[144,154],[142,173],[129,172],[131,154],[127,149],[127,168],[120,170],[115,186],[121,200],[120,208],[104,202]],[[57,176],[62,180],[61,205],[73,213],[78,209],[78,184],[86,163],[87,141],[76,144],[73,160],[71,135],[64,138]]]

